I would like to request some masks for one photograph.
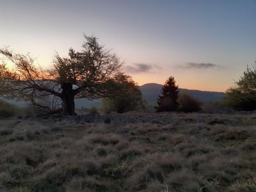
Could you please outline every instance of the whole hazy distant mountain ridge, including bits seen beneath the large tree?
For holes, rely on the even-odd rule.
[[[143,96],[143,99],[147,100],[148,104],[155,105],[158,95],[161,95],[161,89],[163,84],[157,83],[147,83],[140,86],[140,90]],[[223,97],[223,93],[221,92],[204,92],[198,90],[188,90],[180,88],[180,93],[188,93],[195,97],[195,99],[202,101],[218,101]],[[12,104],[15,104],[19,107],[25,107],[26,102],[22,100],[6,100]],[[101,99],[88,100],[88,99],[75,99],[76,108],[91,108],[95,106],[100,108]]]

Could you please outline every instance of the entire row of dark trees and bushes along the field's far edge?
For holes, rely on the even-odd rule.
[[[35,65],[29,54],[0,49],[14,65],[0,64],[0,96],[27,100],[31,106],[47,111],[75,115],[74,99],[103,98],[103,108],[124,113],[145,107],[137,83],[121,72],[122,62],[95,36],[84,35],[81,51],[70,48],[68,57],[56,54],[50,69]],[[223,104],[237,110],[256,109],[256,68],[247,68],[236,85],[227,90]],[[164,83],[157,98],[156,111],[200,111],[202,103],[187,94],[179,94],[174,77]]]

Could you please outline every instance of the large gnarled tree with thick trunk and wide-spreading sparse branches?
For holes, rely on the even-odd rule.
[[[33,106],[52,109],[62,104],[63,113],[74,115],[74,99],[107,97],[109,79],[119,71],[122,63],[115,54],[100,45],[95,36],[84,35],[81,51],[70,48],[67,58],[56,54],[53,66],[44,70],[35,65],[29,54],[16,54],[8,48],[0,49],[15,65],[0,65],[0,95],[29,100]],[[48,97],[51,102],[42,100]]]

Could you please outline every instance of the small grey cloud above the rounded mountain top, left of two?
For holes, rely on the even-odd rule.
[[[132,74],[139,74],[139,73],[148,73],[152,72],[153,69],[161,69],[157,65],[150,65],[146,63],[134,63],[133,65],[124,66],[123,69],[125,72],[129,72]]]

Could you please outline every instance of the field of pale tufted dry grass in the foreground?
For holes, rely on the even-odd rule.
[[[0,191],[256,191],[256,113],[3,119]]]

